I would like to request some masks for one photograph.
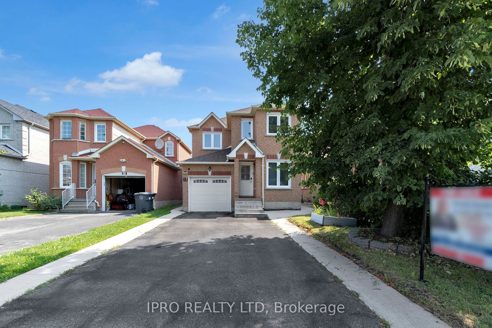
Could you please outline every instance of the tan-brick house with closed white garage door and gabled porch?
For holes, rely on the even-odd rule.
[[[193,157],[177,162],[186,180],[184,210],[234,208],[236,214],[245,214],[301,208],[301,176],[287,179],[286,171],[276,169],[287,161],[279,155],[277,126],[299,123],[295,116],[282,116],[282,111],[250,106],[226,112],[224,118],[210,113],[199,124],[188,127]]]

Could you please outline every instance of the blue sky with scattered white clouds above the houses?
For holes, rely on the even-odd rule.
[[[2,1],[0,99],[41,114],[102,108],[183,138],[262,101],[235,43],[261,1]]]

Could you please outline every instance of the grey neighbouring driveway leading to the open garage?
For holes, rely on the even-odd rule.
[[[135,211],[53,213],[0,220],[0,255],[69,234],[81,233],[132,215],[135,215]]]

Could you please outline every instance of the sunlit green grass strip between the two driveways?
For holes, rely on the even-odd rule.
[[[181,204],[164,206],[155,211],[138,214],[86,232],[61,237],[39,245],[26,247],[19,251],[7,252],[0,256],[0,282],[75,253],[123,231],[140,226],[170,213],[171,209],[178,206],[181,206]]]

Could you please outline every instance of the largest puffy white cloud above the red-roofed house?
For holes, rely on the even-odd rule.
[[[72,79],[65,85],[65,91],[76,91],[77,86],[91,93],[104,94],[109,91],[143,90],[146,87],[177,86],[184,69],[163,65],[162,54],[153,52],[127,62],[125,66],[99,74],[103,81],[85,82]]]

